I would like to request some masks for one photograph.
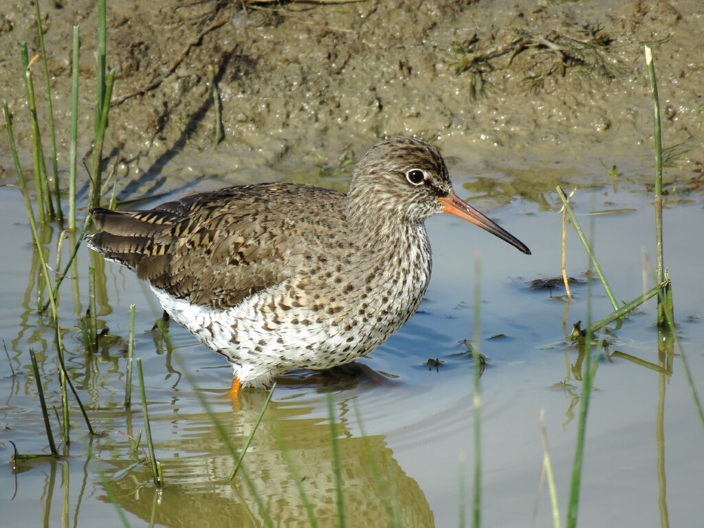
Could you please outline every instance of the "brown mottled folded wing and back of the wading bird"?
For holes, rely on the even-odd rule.
[[[325,258],[344,195],[296,184],[229,187],[146,211],[91,211],[89,245],[191,303],[227,308]]]

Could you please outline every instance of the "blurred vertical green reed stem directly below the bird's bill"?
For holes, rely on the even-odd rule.
[[[482,304],[482,258],[479,251],[474,253],[474,339],[472,341],[472,368],[474,370],[474,498],[472,501],[472,526],[482,524],[482,389],[479,377],[482,375],[482,359],[479,348],[482,343],[481,310]]]

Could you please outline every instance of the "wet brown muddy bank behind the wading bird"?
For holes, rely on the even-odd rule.
[[[389,134],[436,139],[446,154],[477,167],[560,163],[586,182],[604,161],[632,177],[650,174],[643,42],[655,54],[665,143],[690,149],[670,173],[700,176],[700,1],[538,4],[259,2],[243,10],[239,2],[108,2],[116,83],[106,153],[118,191],[203,178],[218,187],[282,172],[317,180]],[[40,6],[65,166],[71,27],[82,34],[80,142],[87,151],[96,11],[87,0]],[[15,114],[28,167],[20,39],[36,53],[34,6],[0,15],[0,45],[8,50],[0,93]],[[39,63],[32,71],[38,89]],[[15,180],[6,139],[0,165],[3,180]]]

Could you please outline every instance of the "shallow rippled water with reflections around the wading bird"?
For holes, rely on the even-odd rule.
[[[332,393],[338,424],[347,526],[386,526],[392,496],[405,527],[453,526],[460,504],[469,518],[474,471],[472,362],[463,355],[467,348],[459,341],[472,339],[477,249],[481,351],[488,362],[481,378],[484,525],[551,523],[550,501],[540,483],[541,410],[545,411],[560,512],[565,517],[582,393],[582,358],[578,347],[563,336],[563,318],[568,308],[568,330],[577,320],[587,319],[589,288],[576,285],[574,300],[566,306],[561,288],[534,291],[527,284],[560,272],[559,199],[546,183],[550,180],[546,172],[554,169],[534,165],[517,170],[507,163],[469,170],[472,160],[461,156],[453,158],[451,165],[458,194],[470,201],[474,198],[476,205],[522,239],[533,255],[524,256],[451,215],[427,222],[434,270],[419,313],[356,367],[318,374],[294,372],[279,379],[244,462],[275,525],[308,525],[291,467],[302,479],[320,525],[336,524],[327,391]],[[555,176],[563,177],[567,175]],[[590,175],[579,177],[584,180]],[[593,225],[595,251],[617,300],[630,301],[652,284],[647,272],[643,279],[642,271],[643,249],[652,259],[655,245],[651,199],[640,184],[622,184],[617,189],[596,170],[591,177],[595,184],[579,189],[574,197],[576,212],[587,232]],[[532,182],[541,183],[534,189]],[[203,185],[208,187],[202,189],[213,188],[212,182]],[[514,189],[522,189],[523,196],[515,196]],[[696,242],[700,240],[702,206],[698,199],[688,200],[668,201],[665,251],[674,284],[677,334],[698,382],[704,372],[699,279],[704,248]],[[500,204],[505,205],[496,207]],[[0,361],[4,401],[0,448],[9,460],[9,441],[20,453],[49,452],[31,374],[30,348],[39,354],[50,405],[58,406],[60,399],[50,321],[38,318],[34,310],[37,259],[19,191],[0,188],[0,205],[0,220],[6,226],[1,235],[5,251],[0,266],[4,292],[0,328],[9,363],[17,373],[13,377],[8,361]],[[591,210],[601,214],[589,215]],[[53,263],[54,250],[50,253]],[[87,307],[89,263],[96,266],[98,277],[99,324],[122,338],[112,344],[103,340],[96,354],[84,353],[76,326],[77,315]],[[586,268],[582,246],[570,230],[567,271],[584,278]],[[205,398],[240,448],[263,406],[265,391],[244,391],[241,408],[233,410],[225,398],[230,368],[177,325],[170,326],[167,346],[161,334],[151,329],[161,310],[131,272],[103,264],[87,250],[81,251],[76,269],[77,280],[65,281],[61,289],[68,368],[94,427],[105,434],[89,438],[80,413],[72,406],[68,457],[22,462],[15,471],[6,464],[0,472],[4,524],[119,525],[120,517],[97,466],[134,526],[259,526],[263,516],[244,474],[227,482],[232,458],[196,393]],[[72,298],[74,292],[76,298]],[[133,453],[125,436],[137,436],[144,429],[137,389],[132,410],[127,413],[122,407],[130,303],[137,305],[135,355],[144,362],[156,457],[165,478],[161,493],[155,492],[149,467],[141,461],[142,451]],[[591,310],[593,319],[611,310],[598,282],[591,285]],[[673,526],[700,522],[702,426],[681,358],[658,358],[654,319],[655,302],[651,300],[610,336],[605,351],[655,365],[662,361],[671,369],[670,375],[659,375],[623,356],[608,359],[604,355],[599,364],[586,427],[580,524],[652,526],[663,515]],[[497,334],[501,336],[493,337]],[[425,363],[430,358],[443,363],[429,367]],[[136,368],[133,382],[136,386]],[[664,429],[659,440],[662,394]],[[52,419],[52,425],[58,434],[56,420]],[[88,449],[96,455],[96,464],[87,460]],[[665,460],[661,478],[659,453]],[[465,460],[463,466],[460,459]],[[463,498],[459,497],[460,479],[466,489]]]

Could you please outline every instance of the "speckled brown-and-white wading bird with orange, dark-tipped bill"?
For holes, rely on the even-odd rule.
[[[392,137],[356,165],[348,194],[265,183],[150,210],[91,210],[89,246],[151,285],[170,317],[263,387],[293,368],[373,351],[415,313],[431,251],[424,222],[452,213],[529,249],[453,192],[439,151]]]

